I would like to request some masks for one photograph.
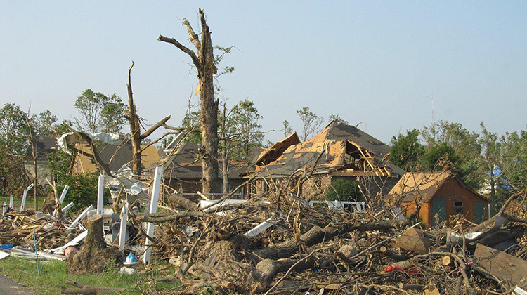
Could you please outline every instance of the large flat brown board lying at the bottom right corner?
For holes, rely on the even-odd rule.
[[[527,261],[505,252],[477,244],[474,253],[476,270],[489,278],[497,278],[507,288],[527,288]]]

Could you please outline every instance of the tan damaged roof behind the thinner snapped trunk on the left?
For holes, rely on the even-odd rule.
[[[75,147],[91,154],[91,149],[87,144],[77,143]],[[141,145],[141,147],[145,148],[144,145]],[[96,145],[96,150],[100,155],[100,159],[102,159],[103,162],[108,163],[110,171],[119,170],[123,165],[131,166],[131,162],[133,161],[132,147],[130,143],[120,145],[100,143]],[[160,156],[157,153],[155,145],[150,145],[141,152],[141,162],[145,168],[157,163],[159,159]],[[98,168],[95,160],[85,155],[77,154],[75,170],[77,173],[95,173],[98,171]]]

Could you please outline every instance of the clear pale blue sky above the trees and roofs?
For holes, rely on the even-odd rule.
[[[525,1],[2,1],[0,105],[60,119],[84,89],[126,100],[131,60],[138,113],[178,125],[197,84],[188,47],[204,8],[212,41],[235,46],[220,77],[230,103],[253,100],[263,129],[307,106],[388,142],[434,120],[526,128]],[[282,133],[266,139],[278,140]]]

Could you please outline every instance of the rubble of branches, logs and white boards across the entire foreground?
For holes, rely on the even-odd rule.
[[[151,199],[159,193],[154,188]],[[65,258],[65,250],[76,246],[79,251],[68,258],[70,273],[101,271],[97,260],[121,262],[130,253],[144,259],[150,249],[152,259],[174,269],[160,281],[178,282],[177,292],[184,294],[204,287],[221,294],[525,294],[527,289],[527,214],[517,205],[525,202],[523,191],[480,225],[453,216],[435,228],[410,223],[417,211],[400,218],[382,199],[349,210],[313,206],[285,188],[243,202],[228,197],[198,206],[172,195],[164,199],[175,202],[160,211],[124,203],[123,225],[119,218],[110,222],[119,223],[119,237],[125,232],[126,238],[114,235],[110,242],[102,231],[105,216],[112,214],[104,210],[101,216],[86,209],[75,221],[8,210],[0,222],[0,244],[14,244],[4,249],[13,256],[33,258],[34,250],[25,247],[32,245],[35,230],[39,259]],[[141,264],[122,273],[152,267]]]

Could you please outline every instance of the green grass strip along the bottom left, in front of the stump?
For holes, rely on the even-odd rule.
[[[0,261],[0,273],[8,275],[11,280],[37,294],[60,294],[60,287],[74,288],[66,284],[67,278],[89,284],[91,287],[125,288],[126,291],[122,294],[167,294],[177,290],[174,283],[155,282],[156,277],[174,274],[174,268],[166,263],[153,262],[149,268],[151,270],[137,275],[120,275],[120,265],[100,275],[69,275],[65,261],[44,262],[39,266],[40,275],[37,274],[37,263],[34,261],[8,257]]]

